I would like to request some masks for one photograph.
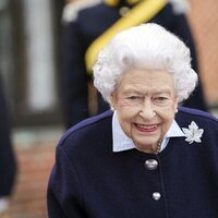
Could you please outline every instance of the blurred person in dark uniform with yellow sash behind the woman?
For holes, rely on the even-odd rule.
[[[172,2],[166,0],[78,0],[65,7],[62,87],[66,128],[109,108],[98,94],[97,104],[93,104],[95,89],[92,87],[92,66],[99,49],[118,31],[146,22],[154,22],[166,27],[185,41],[191,49],[193,69],[198,72],[195,45],[187,19],[184,10],[180,10],[182,7]],[[140,20],[134,23],[132,22],[134,17],[140,17]],[[207,110],[201,81],[184,106]],[[92,108],[94,110],[90,110]]]

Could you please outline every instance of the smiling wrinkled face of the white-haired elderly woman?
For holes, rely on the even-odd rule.
[[[169,130],[178,100],[172,76],[159,70],[131,70],[111,96],[123,132],[135,146],[155,153]]]

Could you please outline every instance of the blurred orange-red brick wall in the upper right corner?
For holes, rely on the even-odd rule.
[[[189,19],[197,44],[208,105],[218,105],[218,1],[190,0]]]

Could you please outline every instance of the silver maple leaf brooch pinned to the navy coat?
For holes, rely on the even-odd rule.
[[[182,131],[186,137],[185,141],[189,142],[190,144],[192,144],[193,142],[196,142],[196,143],[202,142],[201,137],[204,133],[204,130],[199,129],[194,121],[191,122],[191,124],[189,125],[189,129],[182,128]]]

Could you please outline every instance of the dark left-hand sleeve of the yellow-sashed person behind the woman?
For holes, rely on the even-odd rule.
[[[84,40],[76,21],[63,24],[63,109],[66,128],[88,117],[87,75]]]

